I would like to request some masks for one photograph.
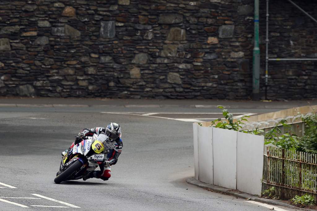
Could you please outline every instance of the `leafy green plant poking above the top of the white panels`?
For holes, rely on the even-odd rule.
[[[248,133],[245,130],[242,130],[242,126],[245,124],[243,121],[248,121],[246,118],[249,116],[243,115],[242,117],[238,118],[237,121],[233,121],[233,114],[230,114],[228,109],[225,109],[225,107],[219,105],[217,108],[221,109],[223,117],[226,119],[226,121],[223,121],[221,118],[218,118],[215,121],[211,122],[211,127],[217,127],[222,129],[228,129],[228,130],[235,130],[240,131],[244,133]]]

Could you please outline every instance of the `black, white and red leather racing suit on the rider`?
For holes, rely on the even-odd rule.
[[[104,127],[94,127],[94,128],[85,128],[81,131],[82,133],[85,134],[85,137],[91,137],[94,134],[106,134],[106,129]],[[74,145],[80,143],[83,139],[80,138],[76,138],[76,140],[74,141],[74,143],[70,146],[70,148],[73,148]],[[123,143],[121,140],[121,134],[120,136],[116,139],[116,140],[111,140],[109,139],[111,142],[115,141],[116,143],[114,144],[116,146],[116,148],[114,148],[113,150],[110,150],[107,153],[107,158],[108,161],[110,162],[110,165],[114,165],[117,163],[119,155],[122,152],[122,148],[123,148]],[[88,178],[100,178],[102,180],[108,180],[111,177],[111,170],[110,170],[110,166],[105,168],[103,164],[99,165],[100,167],[100,171],[93,171],[90,173],[89,177],[84,178],[84,180],[88,179]]]

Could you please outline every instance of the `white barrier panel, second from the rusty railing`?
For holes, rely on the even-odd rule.
[[[214,185],[236,189],[237,132],[212,128]]]

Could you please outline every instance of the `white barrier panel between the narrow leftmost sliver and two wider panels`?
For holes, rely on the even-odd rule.
[[[212,128],[198,126],[199,181],[213,183]]]

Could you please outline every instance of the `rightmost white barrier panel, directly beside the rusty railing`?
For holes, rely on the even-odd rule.
[[[264,136],[238,132],[237,189],[261,195]]]

